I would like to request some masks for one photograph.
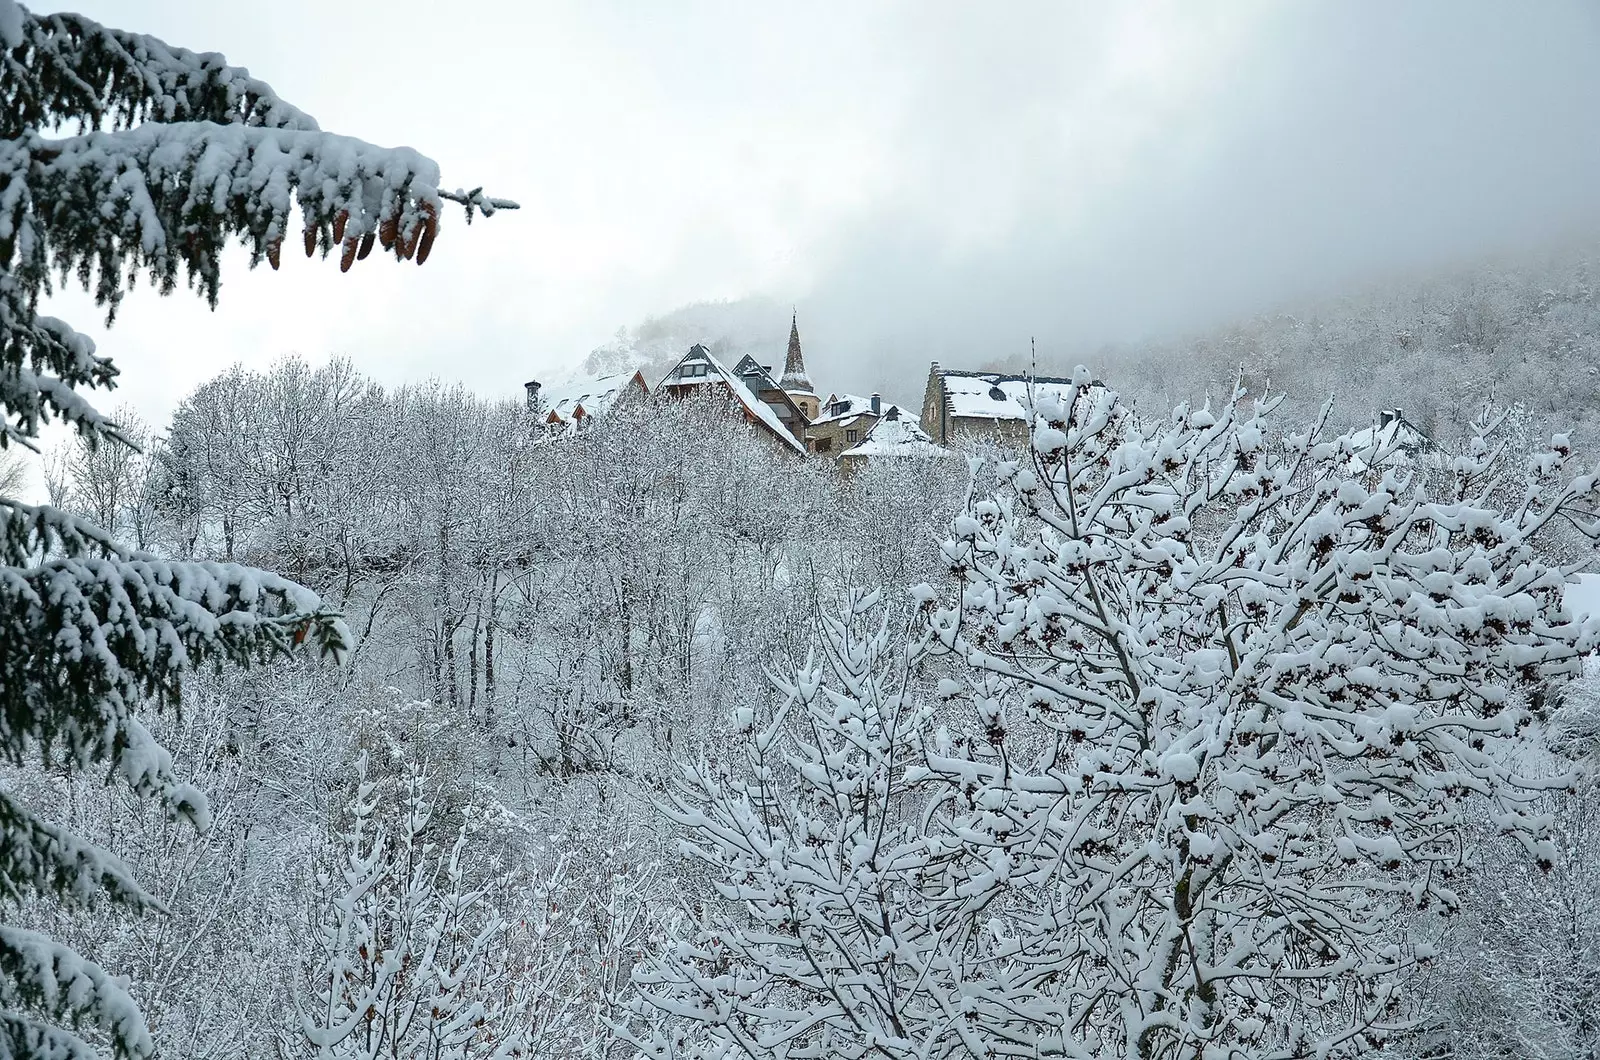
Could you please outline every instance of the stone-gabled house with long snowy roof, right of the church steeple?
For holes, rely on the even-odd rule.
[[[934,360],[922,399],[922,429],[944,447],[982,440],[1026,445],[1032,402],[1069,402],[1072,394],[1072,379],[963,371]]]

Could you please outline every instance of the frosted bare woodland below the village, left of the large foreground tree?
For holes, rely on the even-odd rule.
[[[283,999],[312,1004],[349,958],[338,903],[365,884],[342,858],[413,826],[408,785],[432,804],[426,841],[448,852],[459,833],[450,900],[491,887],[462,930],[506,921],[485,942],[485,975],[520,1006],[504,1020],[539,1055],[614,1054],[605,1020],[629,969],[701,887],[653,801],[770,698],[768,673],[806,656],[834,599],[898,600],[928,576],[965,487],[925,461],[842,482],[715,402],[539,440],[520,404],[384,391],[346,362],[232,370],[160,429],[123,423],[144,453],[70,445],[53,503],[142,549],[282,570],[352,631],[344,666],[202,676],[152,722],[211,796],[205,836],[106,802],[94,777],[19,780],[56,786],[77,831],[173,906],[50,925],[133,977],[163,1049],[197,1055],[317,1055],[302,1020],[336,1009]],[[400,860],[365,871],[416,871],[416,853],[384,857]],[[363,930],[427,909],[384,905]]]

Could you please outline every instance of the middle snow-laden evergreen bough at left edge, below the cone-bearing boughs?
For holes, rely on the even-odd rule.
[[[0,656],[0,751],[18,762],[35,746],[77,767],[109,761],[133,791],[203,826],[205,799],[174,780],[131,709],[174,698],[181,674],[205,660],[248,663],[307,639],[342,656],[344,621],[277,575],[130,554],[48,508],[0,501],[0,511],[11,552],[0,615],[18,645]],[[38,689],[53,709],[37,709]]]

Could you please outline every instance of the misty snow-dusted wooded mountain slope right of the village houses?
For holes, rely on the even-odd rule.
[[[1374,285],[1200,338],[1106,349],[1094,363],[1141,404],[1216,402],[1243,370],[1250,389],[1286,394],[1288,420],[1310,418],[1333,395],[1341,426],[1403,408],[1445,445],[1462,440],[1486,404],[1522,405],[1536,437],[1570,431],[1592,452],[1600,445],[1597,261],[1600,243],[1584,242]]]

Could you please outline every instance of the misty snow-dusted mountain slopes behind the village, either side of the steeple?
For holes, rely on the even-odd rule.
[[[650,317],[595,347],[576,373],[642,368],[654,381],[685,349],[766,354],[781,360],[789,306],[752,295],[706,301]],[[1027,322],[1019,322],[1026,325]],[[805,320],[802,320],[805,325]],[[816,327],[842,330],[840,322]],[[848,330],[848,328],[845,328]],[[822,375],[872,375],[872,387],[915,402],[928,363],[904,349],[878,351],[872,367],[830,363]],[[1534,436],[1570,431],[1574,445],[1600,448],[1600,240],[1541,255],[1483,261],[1424,277],[1373,282],[1342,295],[1288,306],[1197,336],[1062,351],[1040,336],[1038,370],[1067,375],[1088,362],[1146,408],[1221,400],[1245,384],[1285,394],[1290,421],[1309,420],[1330,395],[1334,423],[1358,428],[1382,408],[1453,445],[1488,404],[1522,405]],[[1026,354],[974,349],[962,367],[1024,371]]]

